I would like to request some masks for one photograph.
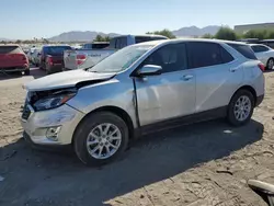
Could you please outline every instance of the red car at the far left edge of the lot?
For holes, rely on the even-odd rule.
[[[0,73],[24,71],[30,75],[30,62],[19,45],[0,45]]]

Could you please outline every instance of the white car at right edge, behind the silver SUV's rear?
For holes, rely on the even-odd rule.
[[[273,69],[274,49],[262,44],[251,44],[250,46],[254,50],[256,58],[265,65],[266,69]]]

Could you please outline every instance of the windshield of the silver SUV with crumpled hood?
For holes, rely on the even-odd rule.
[[[110,57],[103,59],[94,67],[90,68],[92,72],[119,72],[126,70],[138,58],[140,58],[146,52],[148,52],[152,45],[135,45],[125,47]]]

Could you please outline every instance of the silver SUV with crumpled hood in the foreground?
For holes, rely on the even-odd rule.
[[[27,83],[24,137],[34,145],[72,145],[83,163],[94,165],[158,129],[218,117],[241,126],[263,100],[263,69],[243,43],[128,46],[92,68]]]

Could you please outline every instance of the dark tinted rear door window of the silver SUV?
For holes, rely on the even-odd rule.
[[[215,43],[187,43],[190,68],[209,67],[222,64],[220,47]]]

